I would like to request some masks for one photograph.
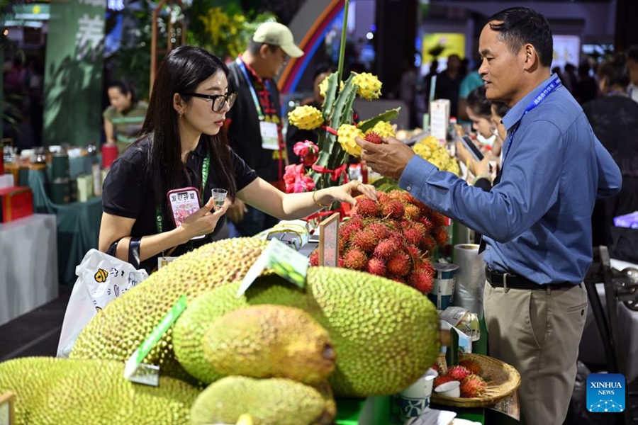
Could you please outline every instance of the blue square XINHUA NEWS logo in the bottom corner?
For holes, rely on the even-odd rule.
[[[625,376],[620,373],[591,373],[587,377],[587,409],[593,413],[625,410]]]

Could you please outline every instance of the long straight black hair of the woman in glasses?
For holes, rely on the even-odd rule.
[[[147,152],[147,174],[153,183],[153,196],[156,205],[164,205],[166,193],[180,188],[188,174],[186,164],[181,160],[181,141],[179,139],[179,114],[173,108],[173,96],[176,93],[196,91],[202,81],[213,74],[223,71],[228,77],[228,67],[215,55],[202,49],[184,45],[172,50],[159,66],[153,84],[149,107],[138,141],[150,138],[151,147]],[[233,159],[228,141],[223,132],[210,136],[201,135],[200,142],[206,144],[211,156],[211,174],[217,176],[220,187],[235,198],[237,185]],[[137,142],[136,142],[137,143]],[[196,175],[200,170],[196,171]],[[202,183],[206,185],[206,182]],[[202,200],[205,200],[202,194]]]

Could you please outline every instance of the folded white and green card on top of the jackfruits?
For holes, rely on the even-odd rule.
[[[241,297],[255,279],[264,271],[264,268],[272,270],[293,285],[303,288],[308,276],[308,257],[299,254],[290,246],[277,239],[271,239],[270,244],[264,249],[262,255],[257,257],[252,267],[246,273],[242,284],[237,290],[236,297]]]

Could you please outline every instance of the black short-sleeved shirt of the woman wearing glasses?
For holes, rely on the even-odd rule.
[[[162,214],[162,231],[166,232],[175,228],[171,213],[168,208],[167,199],[163,197],[162,205],[156,205],[153,196],[153,184],[146,170],[147,153],[150,149],[150,139],[142,140],[137,145],[133,145],[126,149],[113,164],[111,170],[108,171],[106,179],[103,183],[102,203],[103,211],[111,215],[120,217],[134,218],[135,224],[131,229],[130,236],[141,238],[157,234],[157,207],[160,207]],[[189,181],[184,181],[181,187],[194,186],[201,187],[201,169],[206,159],[206,146],[204,142],[200,142],[194,151],[189,153],[186,166],[189,168]],[[248,184],[257,179],[257,174],[246,165],[246,163],[237,157],[237,154],[231,152],[233,158],[233,166],[235,169],[235,181],[237,183],[237,191],[242,190]],[[200,194],[201,202],[206,203],[211,198],[213,188],[220,188],[218,176],[214,169],[208,172],[208,180]],[[177,188],[176,188],[177,189]],[[222,217],[215,230],[206,235],[202,239],[194,239],[193,248],[212,242],[215,235],[225,224],[225,217]],[[177,247],[172,256],[179,256],[187,251],[188,244]],[[157,256],[142,261],[141,266],[147,271],[151,271],[157,266]]]

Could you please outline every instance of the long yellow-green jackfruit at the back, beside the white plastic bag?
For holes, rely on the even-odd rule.
[[[97,314],[69,357],[126,361],[182,294],[192,300],[242,279],[267,244],[254,238],[224,239],[180,256]],[[163,374],[188,380],[189,375],[174,361],[171,339],[169,329],[144,363],[159,365]]]

